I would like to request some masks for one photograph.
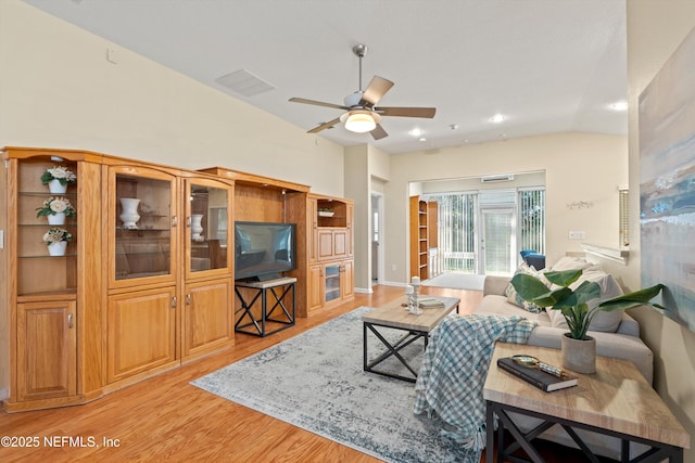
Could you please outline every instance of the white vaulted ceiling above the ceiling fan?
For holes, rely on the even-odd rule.
[[[304,130],[334,119],[359,89],[395,82],[379,106],[434,106],[432,119],[384,117],[387,153],[561,131],[627,133],[626,0],[24,0]],[[244,95],[220,77],[268,85]],[[500,114],[501,123],[491,121]],[[419,133],[413,133],[418,129]],[[270,128],[269,128],[270,130]],[[316,137],[307,134],[307,137]]]

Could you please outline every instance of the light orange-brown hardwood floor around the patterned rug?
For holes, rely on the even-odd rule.
[[[471,291],[427,287],[424,293],[459,297],[462,313],[470,312],[482,298],[480,292]],[[0,436],[10,436],[14,443],[38,446],[8,448],[2,445],[0,461],[378,462],[189,383],[356,307],[383,305],[402,294],[402,287],[376,286],[371,295],[357,294],[353,303],[308,319],[298,318],[295,326],[266,338],[237,334],[235,347],[91,403],[1,414]],[[47,446],[45,438],[52,439],[53,447]],[[81,446],[76,440],[79,438]],[[104,445],[104,439],[110,439],[111,447]],[[564,458],[563,462],[570,460]]]

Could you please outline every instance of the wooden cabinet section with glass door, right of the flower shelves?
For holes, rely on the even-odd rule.
[[[106,159],[106,383],[174,368],[179,317],[175,170]],[[130,207],[127,206],[130,203]],[[128,382],[124,383],[128,384]]]

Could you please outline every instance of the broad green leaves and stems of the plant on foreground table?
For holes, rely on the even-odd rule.
[[[569,286],[582,274],[582,270],[548,271],[543,276],[551,283],[559,286],[549,288],[545,283],[533,275],[517,273],[511,279],[511,284],[523,300],[533,303],[539,307],[551,307],[552,310],[560,310],[567,325],[569,326],[569,337],[572,339],[585,340],[586,331],[592,319],[599,310],[614,311],[631,309],[637,306],[653,306],[661,310],[666,307],[650,303],[666,286],[656,284],[633,293],[623,294],[607,300],[603,300],[593,308],[589,307],[589,301],[601,297],[601,286],[598,283],[584,281],[576,290]]]

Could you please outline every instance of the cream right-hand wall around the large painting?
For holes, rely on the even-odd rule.
[[[685,36],[695,27],[695,1],[692,0],[630,0],[628,1],[628,89],[630,104],[630,191],[631,224],[630,255],[623,280],[640,287],[640,127],[637,101],[673,54]],[[665,282],[668,284],[668,282]],[[640,321],[642,337],[655,355],[655,386],[679,421],[695,437],[695,333],[649,308],[631,311]],[[693,443],[691,443],[693,447]],[[693,449],[685,451],[684,461],[695,461]]]

